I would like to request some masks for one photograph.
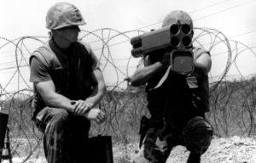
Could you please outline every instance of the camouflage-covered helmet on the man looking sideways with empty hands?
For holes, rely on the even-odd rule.
[[[84,18],[73,4],[55,3],[46,15],[46,28],[57,30],[70,25],[85,25]]]

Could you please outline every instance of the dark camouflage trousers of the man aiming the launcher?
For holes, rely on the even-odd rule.
[[[212,132],[212,126],[200,116],[188,121],[182,130],[166,132],[160,127],[150,127],[133,163],[165,163],[172,148],[177,145],[185,146],[190,151],[188,163],[199,163],[211,143]]]

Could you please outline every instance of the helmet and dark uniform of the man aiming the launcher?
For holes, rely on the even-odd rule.
[[[173,24],[186,24],[193,29],[189,14],[183,11],[166,15],[163,27]],[[191,46],[190,49],[194,53],[194,62],[201,55],[210,55],[201,48]],[[164,53],[165,50],[150,53],[138,67],[161,62]],[[205,113],[210,109],[208,76],[197,78],[168,70],[170,67],[158,71],[147,82],[147,107],[151,117],[142,119],[140,151],[133,159],[134,163],[164,163],[177,145],[190,151],[188,163],[199,163],[211,143],[213,129],[205,119]]]

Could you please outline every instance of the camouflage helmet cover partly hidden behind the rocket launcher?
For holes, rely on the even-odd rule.
[[[193,29],[193,21],[189,14],[180,10],[175,10],[170,14],[167,14],[162,27],[173,24],[187,24],[191,29]]]

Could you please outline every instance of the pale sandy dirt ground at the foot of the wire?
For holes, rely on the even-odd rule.
[[[21,150],[24,150],[20,147]],[[113,162],[128,163],[137,155],[137,143],[129,143],[126,146],[121,143],[113,144]],[[182,146],[172,150],[167,163],[185,163],[189,155]],[[13,163],[21,163],[26,160],[27,155],[13,158]],[[26,160],[27,163],[47,163],[44,159],[43,150],[37,155],[32,155]],[[256,163],[256,137],[255,138],[213,138],[210,148],[201,156],[201,162],[207,163]],[[9,163],[4,160],[3,163]]]

